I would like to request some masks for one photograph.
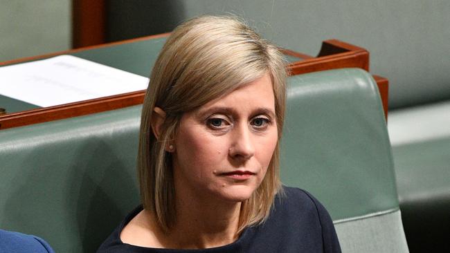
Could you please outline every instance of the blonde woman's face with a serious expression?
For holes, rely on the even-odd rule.
[[[269,74],[181,118],[174,141],[175,189],[242,201],[264,178],[278,140]]]

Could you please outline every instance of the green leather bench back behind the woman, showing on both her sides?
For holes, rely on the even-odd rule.
[[[0,131],[0,227],[93,252],[138,205],[141,106]],[[408,252],[372,77],[289,78],[282,180],[329,210],[343,252]]]

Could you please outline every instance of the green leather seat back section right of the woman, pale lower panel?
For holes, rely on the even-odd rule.
[[[343,252],[407,252],[377,86],[356,68],[289,79],[282,181],[330,212]]]

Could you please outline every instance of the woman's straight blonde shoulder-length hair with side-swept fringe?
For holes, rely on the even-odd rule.
[[[181,115],[265,73],[271,75],[279,142],[287,74],[276,46],[235,17],[197,17],[178,26],[168,37],[150,76],[138,149],[141,201],[164,231],[176,218],[172,160],[165,147],[176,138]],[[150,124],[155,106],[166,113],[159,140]],[[239,232],[269,216],[274,197],[282,189],[278,153],[277,144],[260,187],[241,205]]]

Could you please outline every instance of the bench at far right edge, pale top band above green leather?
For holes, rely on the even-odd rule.
[[[411,252],[450,252],[450,100],[389,112],[388,130]]]

